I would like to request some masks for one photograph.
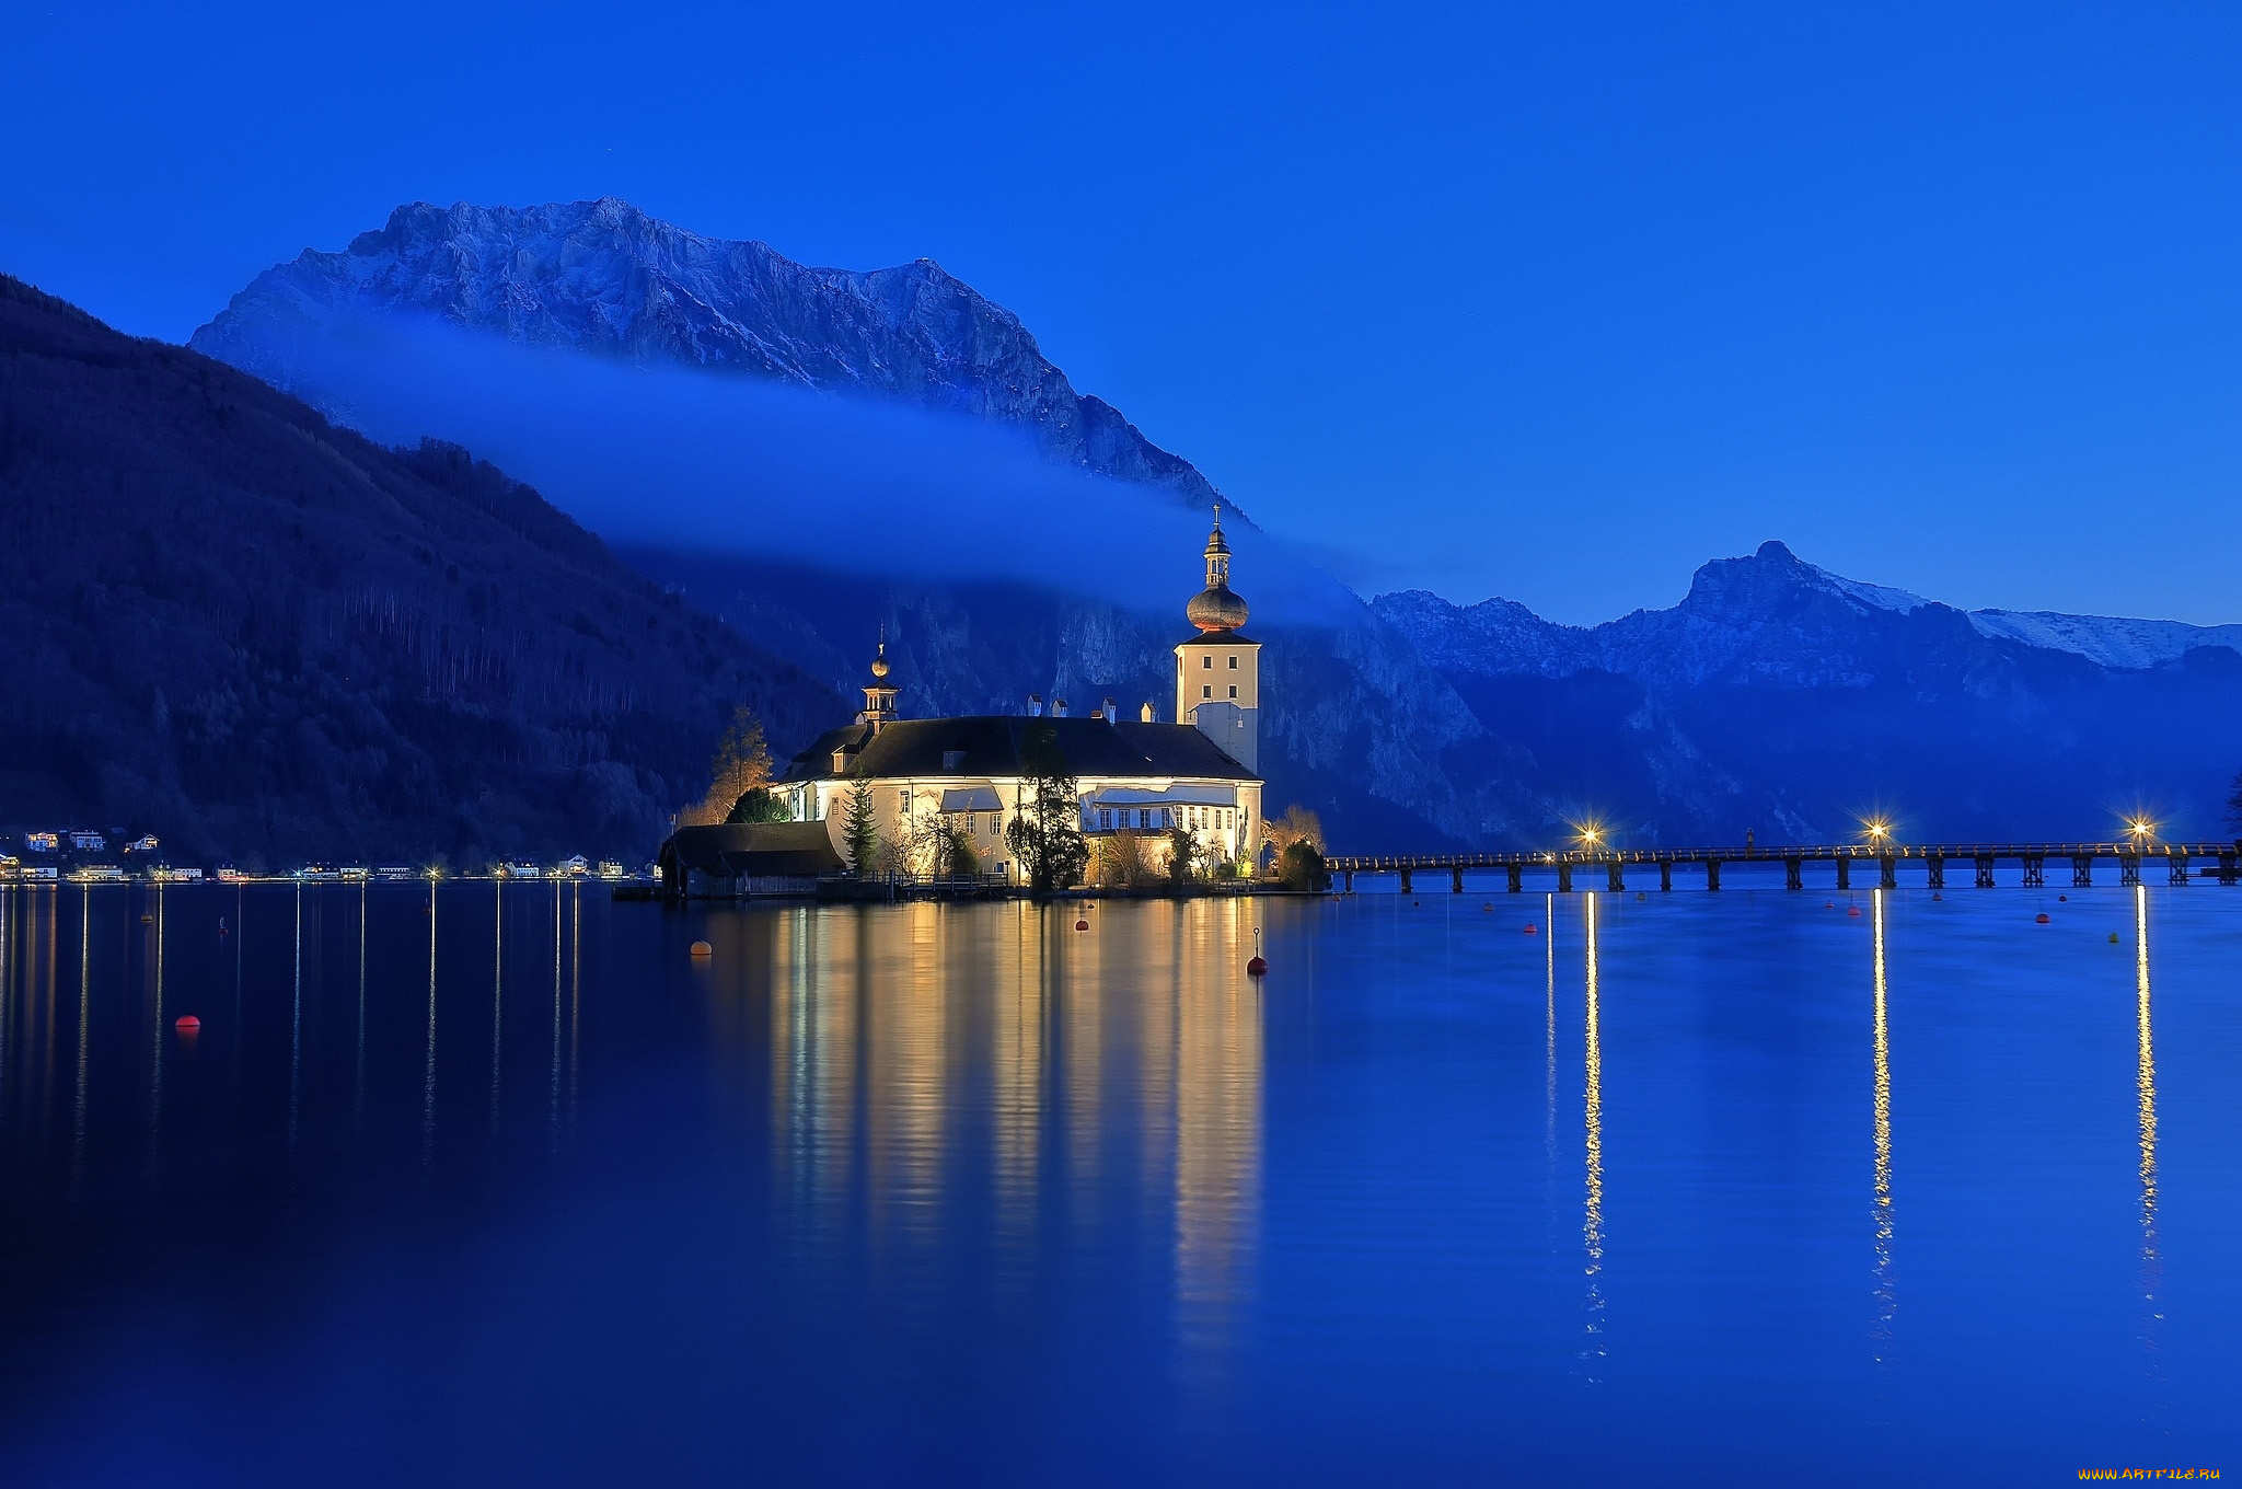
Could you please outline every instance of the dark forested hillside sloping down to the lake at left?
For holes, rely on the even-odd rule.
[[[845,704],[446,444],[0,276],[0,827],[643,859],[733,704]]]

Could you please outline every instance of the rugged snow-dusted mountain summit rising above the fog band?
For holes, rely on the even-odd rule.
[[[352,318],[415,312],[531,345],[993,419],[1085,471],[1166,487],[1199,509],[1217,500],[1188,460],[1076,392],[1018,316],[930,258],[868,274],[812,269],[614,197],[399,206],[341,253],[305,249],[267,269],[188,345],[323,401],[303,381],[309,339]]]

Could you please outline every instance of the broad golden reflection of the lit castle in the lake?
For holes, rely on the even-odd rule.
[[[805,1245],[861,1224],[874,1249],[933,1247],[986,1184],[998,1258],[1025,1271],[1054,1215],[1173,1209],[1179,1325],[1226,1328],[1260,1215],[1249,901],[803,908],[708,935],[715,1043],[769,1058]]]

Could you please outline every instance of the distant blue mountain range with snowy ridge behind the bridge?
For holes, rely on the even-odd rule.
[[[2036,617],[2051,623],[2020,637],[2009,612],[1841,579],[1782,543],[1603,626],[1426,592],[1372,610],[1529,783],[1632,841],[1829,841],[1868,812],[1937,839],[2103,839],[2134,807],[2215,836],[2242,765],[2235,628]]]

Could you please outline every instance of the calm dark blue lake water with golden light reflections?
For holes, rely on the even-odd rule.
[[[1076,915],[0,893],[0,1482],[2242,1473],[2242,890]]]

